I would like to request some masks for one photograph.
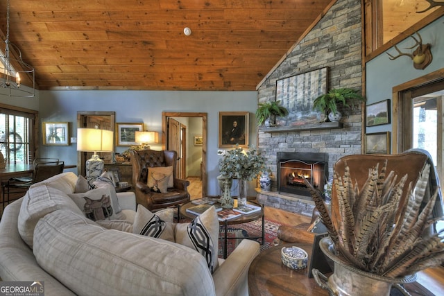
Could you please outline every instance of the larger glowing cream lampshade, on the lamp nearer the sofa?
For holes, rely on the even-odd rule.
[[[87,152],[112,152],[113,133],[111,130],[96,128],[77,129],[77,150]]]

